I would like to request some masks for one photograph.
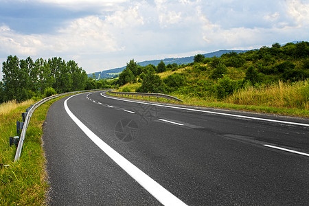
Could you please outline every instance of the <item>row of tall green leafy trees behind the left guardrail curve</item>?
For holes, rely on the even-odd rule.
[[[19,60],[8,56],[2,63],[3,78],[0,82],[0,103],[30,98],[43,98],[56,93],[111,87],[107,81],[88,78],[86,71],[69,60],[54,57]]]

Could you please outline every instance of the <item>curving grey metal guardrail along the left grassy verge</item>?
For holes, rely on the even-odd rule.
[[[72,91],[72,92],[62,93],[62,94],[58,94],[58,95],[53,95],[53,96],[44,98],[43,100],[40,100],[40,101],[36,102],[36,104],[34,104],[30,108],[30,110],[27,112],[27,116],[25,117],[25,122],[23,123],[23,129],[21,130],[21,137],[19,137],[19,144],[18,144],[17,149],[16,149],[16,154],[15,154],[14,161],[19,161],[19,157],[21,157],[21,150],[23,149],[23,142],[25,141],[25,135],[26,135],[26,132],[27,132],[28,124],[30,122],[32,114],[34,113],[34,110],[36,108],[38,108],[38,106],[40,106],[41,104],[43,104],[43,103],[45,103],[45,102],[47,102],[49,100],[52,100],[54,98],[58,98],[58,97],[63,96],[63,95],[68,95],[68,94],[71,94],[71,93],[82,93],[82,92],[87,92],[87,91],[100,91],[100,90],[105,90],[105,89]]]

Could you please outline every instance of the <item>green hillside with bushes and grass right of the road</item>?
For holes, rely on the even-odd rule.
[[[182,104],[309,117],[309,43],[274,43],[220,57],[194,56],[188,65],[141,67],[119,74],[118,91],[165,93]]]

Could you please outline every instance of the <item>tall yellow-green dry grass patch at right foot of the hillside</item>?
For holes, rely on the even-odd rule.
[[[309,82],[284,83],[279,81],[271,86],[247,87],[231,95],[225,102],[308,110]]]

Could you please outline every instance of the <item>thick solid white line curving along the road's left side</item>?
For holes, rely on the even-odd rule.
[[[80,94],[77,94],[80,95]],[[72,95],[71,97],[67,98],[69,100],[70,98],[73,98],[76,95]],[[73,113],[69,110],[69,107],[67,106],[67,100],[65,100],[65,111],[67,111],[67,114],[73,119],[73,121],[82,129],[82,131],[103,151],[105,152],[108,157],[111,157],[115,163],[117,163],[124,171],[126,171],[135,181],[137,181],[142,187],[144,187],[152,196],[157,198],[157,200],[162,203],[163,205],[183,205],[186,204],[183,203],[179,198],[176,198],[172,193],[170,193],[168,190],[166,190],[164,187],[159,185],[156,181],[150,178],[147,174],[139,170],[133,163],[130,163],[127,159],[122,157],[118,152],[116,152],[113,148],[108,146],[100,137],[95,135],[87,126],[85,126],[82,122],[80,122],[80,119],[78,119]]]

